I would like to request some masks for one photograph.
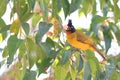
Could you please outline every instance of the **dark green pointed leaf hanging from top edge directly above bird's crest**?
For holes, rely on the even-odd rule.
[[[70,3],[68,2],[68,0],[61,0],[62,2],[62,6],[63,6],[63,11],[64,11],[64,15],[65,18],[67,17],[67,15],[69,15],[70,12]]]

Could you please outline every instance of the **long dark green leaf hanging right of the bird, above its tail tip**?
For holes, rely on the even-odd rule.
[[[103,35],[105,40],[105,49],[106,53],[108,52],[109,48],[111,47],[111,41],[112,41],[112,34],[110,32],[109,27],[103,27]]]

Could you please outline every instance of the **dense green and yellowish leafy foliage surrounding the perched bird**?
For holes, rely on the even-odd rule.
[[[90,29],[86,33],[91,34],[107,55],[114,39],[120,46],[118,1],[1,0],[0,39],[7,44],[1,49],[4,60],[0,62],[0,67],[5,62],[8,67],[14,64],[14,70],[10,70],[8,75],[16,73],[15,80],[35,80],[49,67],[54,69],[56,80],[120,80],[120,55],[107,56],[110,65],[103,65],[94,52],[76,50],[61,39],[64,39],[64,20],[60,17],[60,13],[64,13],[66,19],[75,11],[84,13],[86,17],[91,15]],[[3,15],[10,2],[13,3],[9,15],[12,23],[7,24]],[[102,15],[98,14],[98,6]],[[14,19],[15,14],[17,19]],[[101,41],[104,41],[105,49]],[[34,66],[36,69],[32,70]]]

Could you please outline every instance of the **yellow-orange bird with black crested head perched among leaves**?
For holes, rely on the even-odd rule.
[[[90,37],[85,35],[82,31],[76,30],[74,28],[74,26],[72,25],[72,20],[69,20],[67,26],[65,27],[67,42],[70,45],[81,50],[89,49],[91,51],[96,51],[99,53],[99,55],[102,56],[103,61],[106,61],[105,56],[98,50],[94,41]]]

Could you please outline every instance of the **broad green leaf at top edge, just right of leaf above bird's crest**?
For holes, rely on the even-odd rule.
[[[82,3],[82,0],[72,0],[70,4],[70,13],[76,11],[80,7],[81,3]]]

